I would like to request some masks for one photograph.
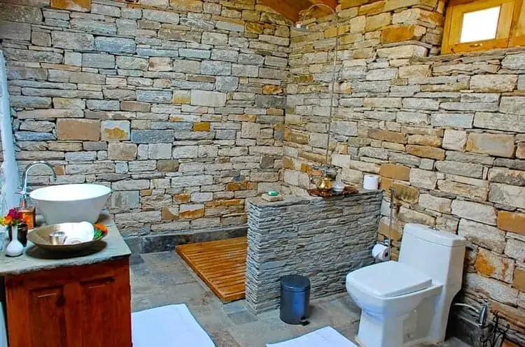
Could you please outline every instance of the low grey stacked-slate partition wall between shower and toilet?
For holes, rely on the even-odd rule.
[[[248,202],[246,302],[254,313],[279,305],[279,279],[307,276],[311,297],[344,292],[346,274],[372,264],[382,192],[349,197],[287,196]]]

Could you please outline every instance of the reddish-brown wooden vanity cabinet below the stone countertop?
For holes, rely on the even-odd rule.
[[[5,278],[10,347],[131,347],[129,257]]]

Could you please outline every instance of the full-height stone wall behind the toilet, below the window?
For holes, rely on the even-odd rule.
[[[465,300],[488,299],[524,343],[525,50],[430,57],[443,8],[342,1],[331,164],[347,183],[378,174],[383,189],[395,189],[395,246],[406,222],[465,236]],[[291,38],[283,180],[298,194],[324,160],[332,19]],[[382,214],[380,238],[386,201]]]

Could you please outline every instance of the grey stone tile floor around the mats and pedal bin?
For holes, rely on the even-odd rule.
[[[288,325],[279,320],[279,310],[255,316],[244,300],[222,304],[174,252],[132,255],[131,264],[133,311],[187,304],[217,347],[263,347],[327,325],[353,339],[358,329],[359,308],[346,294],[313,300],[310,324]],[[467,345],[451,340],[444,346]]]

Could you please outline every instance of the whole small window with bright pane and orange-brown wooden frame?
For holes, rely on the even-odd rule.
[[[525,45],[525,0],[451,0],[442,53]]]

